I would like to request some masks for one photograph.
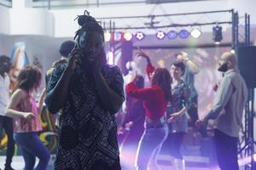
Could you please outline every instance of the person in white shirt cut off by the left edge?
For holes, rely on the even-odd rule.
[[[11,161],[15,153],[13,119],[4,115],[4,110],[9,104],[9,70],[10,59],[6,55],[0,56],[0,128],[3,128],[8,137],[6,163],[4,170],[12,170]]]

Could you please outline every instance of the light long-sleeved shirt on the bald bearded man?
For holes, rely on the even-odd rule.
[[[212,110],[204,121],[217,118],[219,131],[231,137],[238,137],[247,96],[247,86],[239,71],[227,71],[218,87]]]

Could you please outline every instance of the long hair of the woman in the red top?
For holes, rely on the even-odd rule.
[[[152,85],[159,86],[165,92],[165,97],[167,100],[172,99],[172,77],[166,68],[157,68],[154,71],[154,76],[152,77]]]

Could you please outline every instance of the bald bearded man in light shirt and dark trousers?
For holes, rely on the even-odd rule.
[[[224,72],[218,87],[212,110],[196,126],[207,124],[209,119],[217,120],[214,142],[218,165],[221,170],[238,170],[237,140],[241,128],[243,109],[247,101],[247,86],[236,68],[236,54],[224,53],[219,61],[218,71]]]

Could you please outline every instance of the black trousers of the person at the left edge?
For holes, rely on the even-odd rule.
[[[3,127],[8,137],[5,167],[10,167],[10,164],[12,162],[12,159],[15,153],[13,119],[8,116],[0,116],[0,128],[1,127]]]

